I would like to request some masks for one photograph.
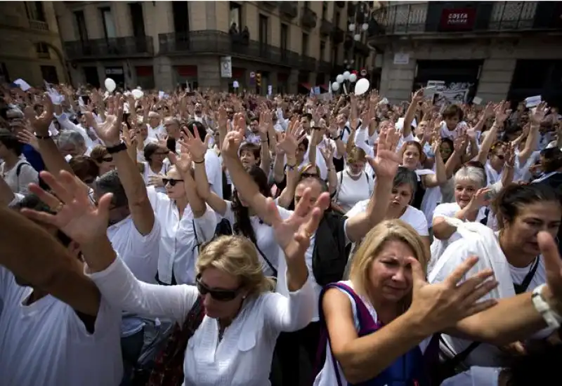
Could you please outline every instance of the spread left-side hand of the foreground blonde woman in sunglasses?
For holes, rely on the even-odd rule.
[[[105,237],[112,194],[104,194],[96,207],[84,189],[84,185],[67,171],[58,177],[42,171],[41,178],[51,187],[53,194],[30,184],[30,192],[37,194],[54,213],[44,213],[32,209],[22,209],[27,218],[54,225],[78,244],[88,244],[98,237]]]

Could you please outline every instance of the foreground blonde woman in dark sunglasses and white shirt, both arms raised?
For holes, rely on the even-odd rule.
[[[281,218],[273,199],[268,199],[268,221],[285,252],[286,268],[281,274],[287,278],[287,295],[281,295],[268,291],[270,281],[263,275],[254,246],[247,239],[232,236],[216,239],[203,249],[197,259],[196,286],[138,281],[107,239],[110,194],[93,206],[84,189],[67,173],[53,184],[56,197],[64,201],[36,190],[42,200],[60,211],[30,216],[58,227],[96,255],[87,261],[87,272],[103,298],[115,307],[183,324],[200,299],[205,316],[185,350],[184,385],[268,385],[277,336],[281,331],[303,328],[311,319],[315,299],[304,253],[321,211],[329,204],[329,194],[322,194],[307,215],[303,213],[307,204],[297,206],[287,220]],[[305,192],[303,203],[310,194]]]

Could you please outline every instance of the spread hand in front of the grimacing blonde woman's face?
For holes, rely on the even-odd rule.
[[[412,266],[412,305],[407,311],[424,326],[424,334],[431,335],[455,326],[458,321],[487,310],[495,299],[479,301],[497,286],[491,269],[485,269],[461,283],[466,273],[476,265],[478,258],[462,262],[442,283],[428,284],[418,260],[408,258]]]

